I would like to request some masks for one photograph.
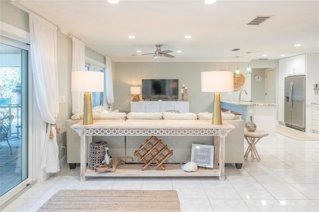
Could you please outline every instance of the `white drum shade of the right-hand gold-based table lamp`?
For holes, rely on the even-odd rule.
[[[201,72],[202,92],[233,92],[234,79],[231,71]]]

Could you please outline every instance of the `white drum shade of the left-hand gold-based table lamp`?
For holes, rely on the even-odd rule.
[[[71,91],[104,92],[104,73],[95,71],[73,71]]]

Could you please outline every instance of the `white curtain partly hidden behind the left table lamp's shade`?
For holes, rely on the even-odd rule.
[[[84,71],[85,68],[85,44],[72,37],[72,71]],[[84,92],[72,92],[72,113],[83,112]]]

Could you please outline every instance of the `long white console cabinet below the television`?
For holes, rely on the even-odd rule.
[[[166,110],[178,110],[181,113],[189,112],[189,102],[181,102],[181,101],[131,102],[131,112],[165,112]]]

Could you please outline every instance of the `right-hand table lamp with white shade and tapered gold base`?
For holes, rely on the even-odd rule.
[[[222,124],[219,92],[234,91],[233,72],[231,71],[201,72],[201,91],[215,92],[214,102],[213,102],[212,124],[214,125]]]

